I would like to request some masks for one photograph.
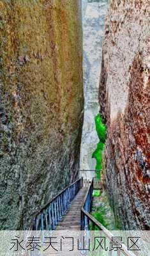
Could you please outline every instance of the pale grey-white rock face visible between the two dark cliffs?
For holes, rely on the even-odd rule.
[[[91,2],[91,1],[88,1]],[[107,0],[83,1],[83,49],[84,49],[84,126],[80,152],[80,170],[94,170],[95,160],[91,158],[98,136],[94,126],[94,116],[99,111],[98,90],[100,63],[102,56],[103,29],[107,14]],[[91,174],[87,175],[91,177]]]

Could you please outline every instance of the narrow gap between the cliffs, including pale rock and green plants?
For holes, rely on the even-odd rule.
[[[100,181],[101,188],[93,193],[91,214],[109,230],[116,230],[114,214],[105,189],[103,152],[107,127],[99,113],[98,102],[102,40],[108,1],[82,0],[83,73],[84,73],[84,125],[80,148],[80,170],[84,179]],[[101,93],[101,92],[100,92]],[[95,172],[89,172],[95,170]]]

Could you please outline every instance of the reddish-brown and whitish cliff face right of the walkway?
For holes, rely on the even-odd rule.
[[[148,2],[111,1],[103,42],[106,186],[116,223],[126,230],[150,228]]]

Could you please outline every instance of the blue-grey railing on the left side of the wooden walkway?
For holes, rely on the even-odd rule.
[[[70,202],[75,198],[80,188],[82,188],[82,184],[83,179],[78,179],[52,198],[52,200],[36,214],[30,230],[56,230],[62,216],[68,211]]]

